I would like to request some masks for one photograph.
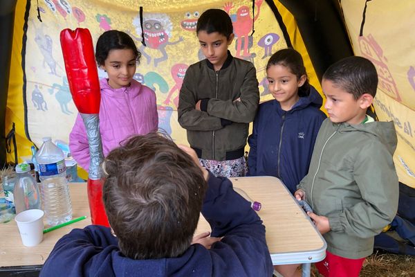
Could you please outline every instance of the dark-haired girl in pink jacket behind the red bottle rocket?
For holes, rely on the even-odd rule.
[[[141,53],[129,35],[109,30],[98,38],[95,59],[108,78],[100,80],[100,133],[104,156],[133,134],[158,129],[156,93],[136,80],[136,65]],[[89,144],[84,122],[78,114],[69,148],[78,165],[89,169]]]

